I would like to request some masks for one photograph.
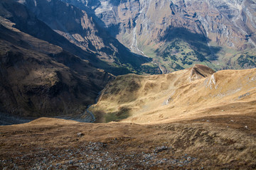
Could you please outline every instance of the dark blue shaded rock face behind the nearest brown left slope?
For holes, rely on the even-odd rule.
[[[23,33],[28,33],[33,37],[50,42],[53,45],[58,45],[63,49],[72,52],[79,57],[90,60],[91,62],[98,62],[95,54],[89,50],[82,50],[80,47],[74,45],[62,35],[55,33],[46,23],[38,20],[38,18],[21,4],[15,1],[1,1],[1,16],[14,23],[14,27],[21,30]]]

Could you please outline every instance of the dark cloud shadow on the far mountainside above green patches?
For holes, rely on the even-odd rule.
[[[198,52],[196,55],[199,61],[218,60],[218,56],[215,54],[220,52],[221,47],[209,47],[209,38],[206,38],[203,34],[191,33],[191,31],[186,28],[173,28],[170,26],[166,29],[160,41],[173,42],[177,39],[188,42],[191,48]],[[207,56],[207,58],[205,56]]]

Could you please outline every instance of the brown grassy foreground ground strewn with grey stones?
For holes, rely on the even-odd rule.
[[[256,116],[137,125],[40,118],[0,127],[0,169],[256,169]]]

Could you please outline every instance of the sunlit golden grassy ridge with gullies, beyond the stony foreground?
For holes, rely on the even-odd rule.
[[[256,69],[194,67],[170,74],[127,74],[111,81],[90,107],[98,121],[169,123],[210,115],[256,113]]]

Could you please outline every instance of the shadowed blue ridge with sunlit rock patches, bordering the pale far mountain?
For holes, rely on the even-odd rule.
[[[91,52],[102,62],[93,62],[96,67],[112,74],[144,72],[159,74],[156,64],[146,64],[150,58],[137,55],[110,36],[98,26],[86,11],[60,0],[18,1],[25,5],[39,20],[46,23],[56,33],[65,37],[73,45]],[[83,55],[79,55],[83,57]],[[90,60],[90,59],[89,59]]]

